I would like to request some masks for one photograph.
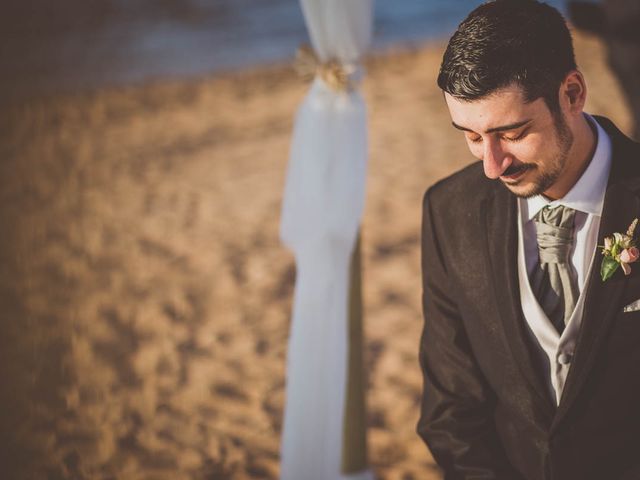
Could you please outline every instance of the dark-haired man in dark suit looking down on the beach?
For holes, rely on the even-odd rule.
[[[425,194],[418,433],[446,480],[640,479],[640,262],[603,281],[600,248],[640,217],[640,145],[583,112],[534,0],[474,10],[438,84],[480,162]]]

